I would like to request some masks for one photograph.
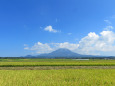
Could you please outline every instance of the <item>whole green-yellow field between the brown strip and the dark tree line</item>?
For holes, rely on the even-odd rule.
[[[115,66],[115,60],[72,60],[72,59],[12,59],[1,61],[0,67],[36,66]]]

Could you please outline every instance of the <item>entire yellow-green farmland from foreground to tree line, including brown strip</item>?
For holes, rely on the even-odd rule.
[[[115,60],[0,59],[0,86],[115,86]]]

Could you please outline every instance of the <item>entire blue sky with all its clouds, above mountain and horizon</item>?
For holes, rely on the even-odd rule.
[[[68,48],[115,55],[115,0],[1,0],[0,56]]]

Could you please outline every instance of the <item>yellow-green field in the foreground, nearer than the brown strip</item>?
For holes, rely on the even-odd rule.
[[[0,70],[1,86],[115,86],[115,69]]]

